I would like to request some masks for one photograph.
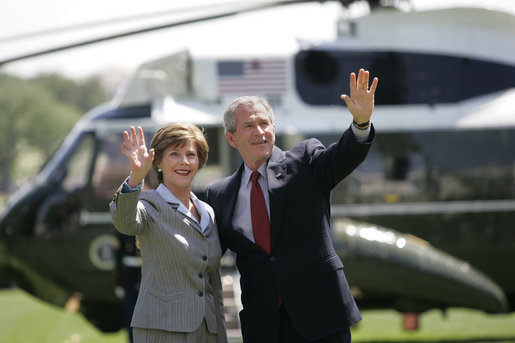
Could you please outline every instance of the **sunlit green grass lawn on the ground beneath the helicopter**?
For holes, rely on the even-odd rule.
[[[124,330],[105,334],[78,313],[67,313],[18,289],[0,290],[0,343],[127,343]],[[515,313],[487,315],[452,309],[420,316],[419,330],[404,331],[395,311],[363,311],[353,342],[515,342]],[[236,340],[235,342],[238,342]]]

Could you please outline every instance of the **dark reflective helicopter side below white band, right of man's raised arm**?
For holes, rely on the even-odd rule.
[[[333,203],[496,200],[515,195],[515,130],[377,133]]]

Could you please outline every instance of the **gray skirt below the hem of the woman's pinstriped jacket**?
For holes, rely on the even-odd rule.
[[[218,335],[207,330],[206,320],[193,332],[132,328],[134,343],[217,343]]]

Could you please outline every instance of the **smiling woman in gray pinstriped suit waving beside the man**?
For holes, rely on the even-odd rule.
[[[165,125],[147,151],[143,130],[131,127],[121,149],[132,171],[110,209],[116,229],[137,235],[141,248],[134,341],[227,342],[214,214],[191,191],[209,151],[202,131],[192,124]],[[142,192],[151,167],[159,186]]]

